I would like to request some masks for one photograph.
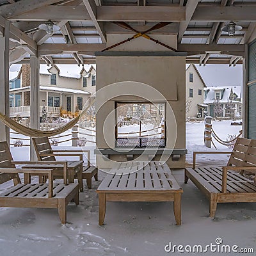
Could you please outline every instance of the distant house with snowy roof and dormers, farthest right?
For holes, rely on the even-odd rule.
[[[234,118],[243,113],[241,86],[215,86],[204,89],[204,104],[212,117]]]

